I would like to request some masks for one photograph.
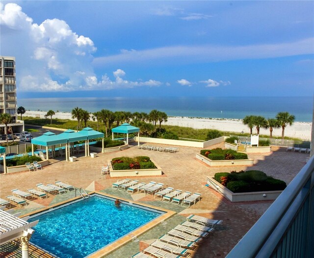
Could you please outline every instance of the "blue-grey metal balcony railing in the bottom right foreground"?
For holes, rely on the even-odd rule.
[[[226,258],[311,258],[314,156]]]

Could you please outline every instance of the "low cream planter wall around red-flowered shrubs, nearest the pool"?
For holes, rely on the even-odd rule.
[[[157,169],[147,170],[113,170],[111,160],[108,160],[110,168],[110,177],[126,177],[126,176],[147,176],[147,175],[162,175],[161,168],[156,164],[154,160],[151,161],[155,164]]]

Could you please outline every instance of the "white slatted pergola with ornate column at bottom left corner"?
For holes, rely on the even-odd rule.
[[[28,223],[27,219],[29,216],[20,219],[17,215],[12,215],[0,209],[0,243],[4,244],[20,238],[22,243],[22,258],[28,258],[28,241],[34,232],[31,227],[36,226],[39,220]]]

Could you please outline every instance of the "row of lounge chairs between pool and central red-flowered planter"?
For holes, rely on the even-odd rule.
[[[130,194],[135,192],[143,192],[146,195],[154,195],[154,199],[170,202],[176,205],[181,203],[181,206],[187,205],[190,207],[192,204],[195,204],[196,201],[200,201],[201,194],[194,193],[182,190],[174,190],[173,187],[163,187],[163,183],[156,183],[154,181],[149,182],[148,184],[144,182],[139,182],[138,180],[131,180],[129,178],[118,180],[112,184],[113,189],[118,189],[119,191],[126,191]]]

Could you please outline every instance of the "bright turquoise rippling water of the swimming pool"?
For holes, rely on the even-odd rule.
[[[60,258],[83,258],[162,213],[93,196],[29,218],[39,220],[30,242]]]

